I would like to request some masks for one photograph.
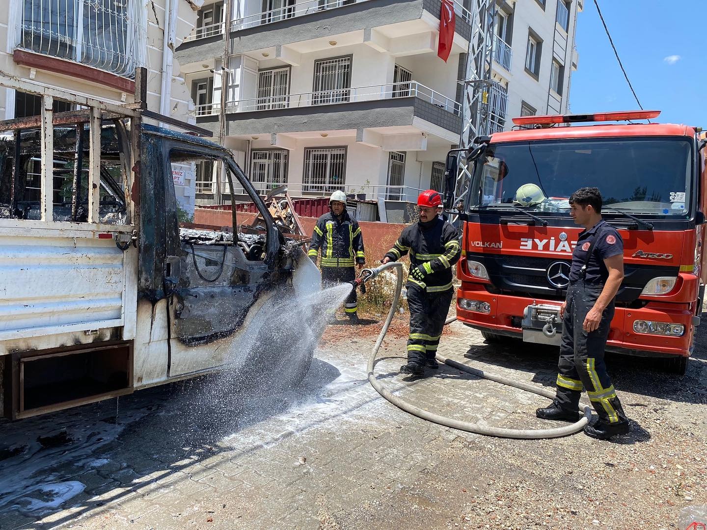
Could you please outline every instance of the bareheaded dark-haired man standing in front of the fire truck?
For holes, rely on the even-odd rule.
[[[580,394],[587,389],[599,420],[584,432],[609,440],[629,432],[629,420],[604,365],[614,297],[624,279],[624,242],[602,219],[599,189],[578,189],[569,203],[574,222],[585,230],[572,254],[567,298],[560,309],[563,329],[557,394],[549,407],[537,409],[537,417],[577,421]]]

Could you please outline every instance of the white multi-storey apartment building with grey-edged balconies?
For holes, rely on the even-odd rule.
[[[566,112],[581,9],[582,0],[498,3],[493,131],[514,116]],[[197,124],[218,136],[225,114],[223,143],[259,189],[392,201],[440,189],[462,127],[467,6],[455,3],[446,62],[440,0],[233,0],[228,24],[225,13],[223,1],[206,0],[176,57]],[[210,166],[197,168],[196,191],[197,204],[229,194]]]

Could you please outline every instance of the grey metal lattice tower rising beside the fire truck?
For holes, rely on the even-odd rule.
[[[472,35],[469,38],[467,68],[464,76],[462,102],[462,134],[460,148],[471,151],[473,141],[479,135],[489,134],[489,87],[494,83],[493,67],[493,21],[496,18],[496,0],[472,0]],[[454,204],[464,201],[469,193],[471,173],[466,163],[466,153],[460,155]]]

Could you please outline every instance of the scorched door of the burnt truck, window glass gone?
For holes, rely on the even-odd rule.
[[[149,283],[153,299],[158,300],[153,303],[167,302],[163,310],[168,323],[168,377],[209,370],[228,360],[233,353],[232,336],[272,284],[267,278],[276,269],[280,246],[279,232],[267,208],[228,152],[193,137],[178,136],[189,139],[188,143],[165,136],[153,136],[153,141],[144,143],[144,155],[154,155],[148,160],[161,166],[153,175],[163,176],[160,186],[147,194],[153,204],[143,202],[142,208],[153,217],[154,232],[147,237],[154,241],[155,265]],[[238,228],[235,233],[180,228],[180,220],[188,213],[177,201],[175,188],[194,179],[198,196],[214,194],[215,177],[222,168],[234,187],[239,192],[242,189],[265,213],[266,233],[238,237]],[[228,179],[223,181],[228,193]],[[145,223],[143,228],[150,230]]]

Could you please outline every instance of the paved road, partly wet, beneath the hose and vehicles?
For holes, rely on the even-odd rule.
[[[0,529],[674,528],[707,505],[707,352],[679,378],[609,361],[635,420],[607,443],[498,440],[398,411],[366,382],[372,338],[328,343],[294,391],[227,375],[0,423]],[[544,399],[443,367],[403,381],[404,338],[376,374],[419,406],[546,427]],[[445,355],[552,386],[556,351],[487,344],[455,323]]]

